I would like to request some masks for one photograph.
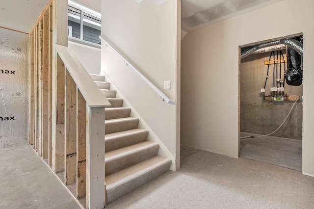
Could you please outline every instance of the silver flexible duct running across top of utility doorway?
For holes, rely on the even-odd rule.
[[[259,49],[265,48],[265,47],[271,47],[279,44],[285,44],[288,47],[292,48],[294,51],[298,52],[298,54],[303,55],[303,43],[300,41],[297,41],[295,39],[282,39],[278,41],[272,41],[264,44],[259,44],[254,47],[251,47],[243,52],[241,52],[241,59],[244,57],[247,57],[251,53],[256,52]]]

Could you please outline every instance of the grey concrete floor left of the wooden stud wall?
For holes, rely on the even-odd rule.
[[[0,209],[80,209],[29,145],[0,149]]]

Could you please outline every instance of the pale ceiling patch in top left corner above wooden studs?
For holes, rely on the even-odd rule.
[[[0,26],[29,33],[49,0],[1,0]]]

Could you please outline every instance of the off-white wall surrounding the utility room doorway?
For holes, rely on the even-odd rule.
[[[238,157],[239,46],[304,32],[303,173],[314,176],[313,8],[312,0],[284,0],[183,38],[183,144]]]

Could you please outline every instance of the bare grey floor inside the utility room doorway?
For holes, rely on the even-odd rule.
[[[241,132],[249,135],[255,137],[241,139],[240,157],[302,171],[301,140]]]

